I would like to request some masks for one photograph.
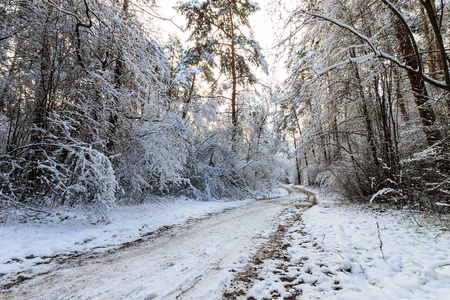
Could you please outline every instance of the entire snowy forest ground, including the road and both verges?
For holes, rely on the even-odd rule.
[[[446,299],[449,232],[287,188],[266,200],[140,207],[132,223],[113,213],[73,231],[65,217],[0,225],[0,299]]]

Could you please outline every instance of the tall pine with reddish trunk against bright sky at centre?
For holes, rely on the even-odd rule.
[[[177,7],[187,18],[187,29],[191,30],[189,50],[192,63],[207,61],[209,76],[206,79],[217,87],[224,75],[225,86],[231,87],[232,141],[238,130],[238,87],[256,83],[251,65],[267,72],[267,65],[259,43],[252,38],[249,16],[258,10],[252,1],[217,0],[188,1]],[[214,72],[217,70],[218,72]]]

